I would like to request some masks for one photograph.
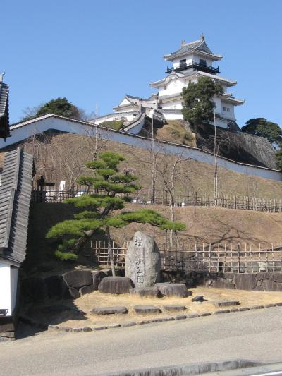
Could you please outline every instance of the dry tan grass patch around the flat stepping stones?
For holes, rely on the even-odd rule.
[[[82,296],[81,298],[73,301],[73,305],[85,313],[84,317],[80,317],[78,320],[66,320],[66,315],[57,315],[56,324],[60,326],[69,327],[84,327],[94,325],[109,325],[111,323],[123,324],[124,322],[141,322],[152,317],[167,317],[170,315],[181,314],[194,314],[194,313],[214,313],[220,308],[214,305],[216,301],[223,300],[238,300],[240,301],[240,307],[247,307],[251,305],[264,305],[269,303],[279,303],[282,301],[281,292],[261,292],[261,291],[240,291],[240,290],[228,290],[228,289],[208,289],[204,287],[197,287],[195,289],[189,289],[192,291],[192,296],[188,298],[139,298],[130,294],[123,295],[109,295],[94,291],[93,293]],[[192,302],[194,296],[203,295],[203,303]],[[164,305],[168,304],[181,304],[185,305],[186,310],[176,311],[175,313],[168,312],[164,309]],[[106,307],[114,305],[123,305],[128,308],[127,314],[113,314],[113,315],[92,315],[90,310],[95,307]],[[161,309],[161,313],[152,313],[146,315],[136,314],[134,310],[135,305],[155,305]],[[230,308],[230,307],[228,307]],[[40,320],[44,320],[47,324],[53,324],[50,322],[48,316],[41,316]]]

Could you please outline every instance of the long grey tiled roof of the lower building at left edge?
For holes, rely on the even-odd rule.
[[[0,186],[0,258],[19,265],[25,259],[32,181],[32,155],[6,152]]]

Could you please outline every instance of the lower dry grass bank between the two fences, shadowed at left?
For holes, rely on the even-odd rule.
[[[169,218],[169,208],[150,206]],[[126,210],[142,208],[142,205],[127,205]],[[27,239],[27,257],[23,272],[27,274],[52,274],[52,271],[73,269],[75,264],[54,259],[56,243],[47,241],[49,228],[62,221],[72,219],[77,209],[66,204],[33,204],[30,210],[30,226]],[[274,243],[281,242],[282,214],[265,214],[247,210],[230,210],[220,207],[178,207],[176,219],[186,224],[186,230],[179,234],[180,243]],[[146,224],[130,224],[124,229],[112,229],[114,241],[129,241],[135,231],[145,231],[164,243],[164,231]],[[80,260],[85,262],[85,260]]]

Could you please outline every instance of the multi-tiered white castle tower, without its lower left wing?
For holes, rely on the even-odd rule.
[[[231,93],[227,92],[228,87],[235,86],[237,82],[219,75],[219,66],[214,66],[214,62],[221,60],[222,56],[214,54],[207,47],[204,35],[195,42],[182,41],[180,49],[164,55],[164,59],[172,63],[172,66],[166,70],[168,75],[149,85],[158,90],[159,111],[166,119],[183,119],[181,112],[183,87],[190,83],[197,83],[200,77],[209,77],[223,87],[223,94],[213,99],[216,104],[217,126],[239,129],[234,107],[243,104],[244,101],[234,98]]]

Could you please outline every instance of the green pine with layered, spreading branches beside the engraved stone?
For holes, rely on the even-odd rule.
[[[125,207],[128,195],[140,189],[135,183],[137,177],[129,171],[122,173],[118,164],[124,158],[114,152],[99,154],[97,161],[87,162],[92,170],[89,176],[81,176],[78,183],[93,187],[95,193],[81,195],[78,198],[68,198],[66,203],[81,208],[82,212],[75,214],[74,219],[60,222],[47,233],[47,238],[57,238],[60,244],[55,252],[61,260],[76,260],[83,245],[94,234],[106,235],[109,248],[111,268],[114,275],[114,260],[111,250],[110,228],[122,228],[131,222],[139,222],[157,226],[160,229],[181,231],[185,225],[171,222],[158,212],[150,209],[135,210],[135,212],[120,212],[116,210]]]

